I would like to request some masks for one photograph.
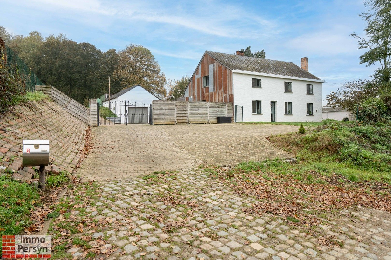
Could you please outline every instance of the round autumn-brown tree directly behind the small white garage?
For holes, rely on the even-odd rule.
[[[157,97],[166,96],[166,78],[151,51],[131,44],[118,52],[118,66],[113,78],[121,82],[122,89],[140,84]]]

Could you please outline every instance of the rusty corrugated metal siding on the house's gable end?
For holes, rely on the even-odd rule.
[[[203,87],[204,76],[209,76],[209,87]],[[187,101],[233,102],[232,71],[205,53],[187,91]]]

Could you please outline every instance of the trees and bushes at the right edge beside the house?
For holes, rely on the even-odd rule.
[[[369,80],[353,80],[326,96],[331,106],[347,108],[353,114],[359,109],[359,120],[391,120],[391,2],[370,0],[364,2],[368,11],[359,16],[366,22],[365,35],[352,33],[359,49],[366,50],[360,56],[360,64],[379,64],[380,68]]]

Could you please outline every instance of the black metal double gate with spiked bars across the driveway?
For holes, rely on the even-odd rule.
[[[152,104],[132,101],[104,101],[98,105],[98,126],[152,124]]]

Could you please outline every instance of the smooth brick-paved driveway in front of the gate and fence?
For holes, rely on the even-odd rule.
[[[84,180],[111,180],[201,163],[228,164],[287,158],[264,136],[297,126],[248,124],[128,125],[93,127],[94,147],[76,173]]]

